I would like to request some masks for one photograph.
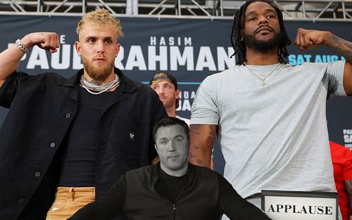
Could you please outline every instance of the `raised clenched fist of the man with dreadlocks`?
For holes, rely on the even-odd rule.
[[[298,28],[294,44],[299,46],[301,50],[316,48],[325,44],[329,35],[331,35],[330,32]]]

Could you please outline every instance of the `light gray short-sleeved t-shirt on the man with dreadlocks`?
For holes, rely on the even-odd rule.
[[[346,96],[344,61],[237,65],[206,77],[191,124],[217,124],[225,178],[247,198],[260,190],[335,191],[327,98]]]

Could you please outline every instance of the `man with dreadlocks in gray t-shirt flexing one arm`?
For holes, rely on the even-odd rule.
[[[209,167],[218,134],[225,178],[258,207],[263,189],[335,191],[325,104],[352,96],[351,42],[298,29],[299,48],[325,45],[347,61],[291,67],[282,12],[263,0],[241,6],[231,38],[237,65],[206,77],[192,105],[190,162]]]

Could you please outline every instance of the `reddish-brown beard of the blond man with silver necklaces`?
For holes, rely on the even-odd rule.
[[[103,82],[106,78],[108,78],[111,75],[111,70],[113,70],[113,67],[114,67],[113,62],[96,67],[92,64],[92,62],[89,62],[89,60],[87,60],[83,56],[82,56],[82,63],[83,63],[84,70],[86,70],[89,77],[99,82]]]

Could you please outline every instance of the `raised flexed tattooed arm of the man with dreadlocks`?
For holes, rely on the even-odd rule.
[[[344,89],[348,96],[352,96],[352,43],[350,41],[337,37],[332,34],[332,32],[298,28],[295,44],[298,45],[301,50],[325,45],[337,51],[340,56],[344,56],[344,58],[346,58]]]

